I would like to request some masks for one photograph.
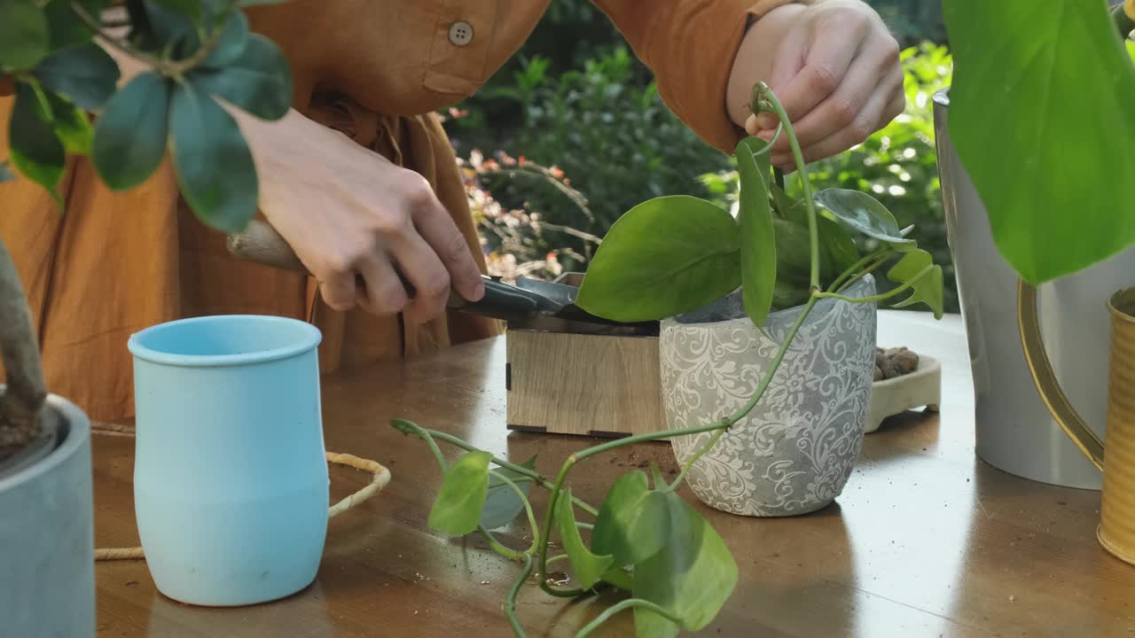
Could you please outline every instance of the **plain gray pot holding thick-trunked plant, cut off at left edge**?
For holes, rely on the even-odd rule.
[[[47,410],[54,450],[0,476],[0,635],[94,638],[91,423],[54,395]]]

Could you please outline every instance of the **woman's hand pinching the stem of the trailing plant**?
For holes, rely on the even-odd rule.
[[[898,42],[860,0],[787,5],[746,34],[730,78],[730,111],[750,135],[767,141],[775,114],[748,111],[748,93],[762,81],[788,111],[806,162],[864,142],[906,108]],[[794,169],[785,135],[773,146],[772,162]]]

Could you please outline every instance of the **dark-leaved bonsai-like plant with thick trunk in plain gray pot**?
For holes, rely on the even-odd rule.
[[[243,11],[272,1],[0,0],[0,94],[15,94],[0,182],[31,179],[65,210],[60,183],[68,156],[89,157],[104,184],[125,191],[145,182],[168,152],[196,218],[228,233],[244,229],[257,211],[257,170],[218,98],[269,120],[291,107],[287,60],[267,37],[250,33]],[[111,5],[121,6],[120,16],[104,12]],[[119,89],[118,62],[95,37],[145,70]],[[0,242],[8,377],[0,460],[43,431],[47,389],[30,319]]]

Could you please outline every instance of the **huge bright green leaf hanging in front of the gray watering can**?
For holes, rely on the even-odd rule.
[[[1135,68],[1103,0],[943,0],[950,138],[1027,282],[1135,243]]]

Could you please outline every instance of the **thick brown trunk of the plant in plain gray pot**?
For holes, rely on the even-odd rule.
[[[8,247],[0,242],[0,355],[7,391],[0,395],[0,461],[35,440],[42,431],[48,392],[24,286]]]

